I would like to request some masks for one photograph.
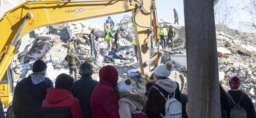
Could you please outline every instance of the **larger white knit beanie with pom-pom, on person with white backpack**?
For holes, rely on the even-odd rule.
[[[165,63],[165,65],[159,65],[154,71],[155,76],[159,77],[169,77],[171,75],[173,65],[170,62]]]

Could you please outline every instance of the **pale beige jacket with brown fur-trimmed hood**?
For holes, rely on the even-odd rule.
[[[141,112],[148,100],[145,95],[118,92],[117,97],[120,118],[145,118]]]

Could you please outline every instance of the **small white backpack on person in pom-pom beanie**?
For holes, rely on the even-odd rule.
[[[155,86],[152,86],[152,87],[155,87]],[[157,90],[159,91],[159,89],[157,89]],[[161,91],[159,91],[159,92],[160,92],[160,94],[162,96],[164,96],[161,93]],[[160,115],[163,118],[182,118],[182,104],[174,98],[175,91],[174,91],[173,97],[171,99],[169,99],[170,95],[171,94],[168,95],[168,99],[166,99],[164,97],[166,99],[166,103],[165,103],[165,116],[163,116],[162,114],[160,114]]]

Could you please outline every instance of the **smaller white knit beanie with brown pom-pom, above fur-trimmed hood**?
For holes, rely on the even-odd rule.
[[[121,80],[117,83],[119,92],[130,93],[132,91],[131,79]]]

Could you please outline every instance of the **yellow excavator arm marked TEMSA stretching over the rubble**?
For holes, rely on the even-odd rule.
[[[155,67],[160,64],[163,52],[151,56],[151,35],[155,30],[156,43],[159,46],[158,21],[155,0],[108,0],[108,1],[70,1],[43,0],[26,1],[9,10],[0,19],[1,61],[0,80],[16,53],[21,37],[40,27],[74,22],[84,19],[103,17],[124,12],[132,12],[136,41],[140,61],[141,77],[147,82],[154,69],[150,63],[155,60]],[[154,28],[151,27],[151,14]],[[103,19],[104,20],[104,19]]]

